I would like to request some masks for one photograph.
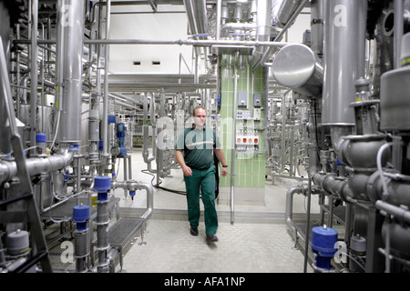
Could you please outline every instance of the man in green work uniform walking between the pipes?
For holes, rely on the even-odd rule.
[[[193,111],[194,126],[186,128],[177,138],[175,156],[181,166],[187,191],[190,234],[198,236],[200,224],[200,190],[204,206],[207,241],[218,241],[218,215],[215,209],[215,171],[213,153],[222,164],[222,176],[227,176],[225,156],[213,128],[205,126],[206,112],[202,106]]]

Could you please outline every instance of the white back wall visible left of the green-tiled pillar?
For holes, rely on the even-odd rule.
[[[159,11],[185,11],[183,5],[158,5]],[[149,11],[150,5],[112,6],[111,12]],[[179,40],[187,39],[188,19],[185,14],[111,15],[110,38]],[[110,45],[109,71],[114,74],[178,74],[179,53],[191,65],[190,45]],[[141,65],[133,65],[133,61]],[[160,65],[152,65],[159,61]],[[182,63],[181,73],[189,71]]]

